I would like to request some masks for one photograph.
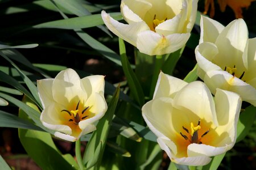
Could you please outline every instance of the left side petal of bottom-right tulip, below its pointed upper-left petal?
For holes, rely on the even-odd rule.
[[[161,97],[148,101],[142,107],[142,116],[146,121],[148,128],[156,134],[157,137],[174,137],[176,132],[171,123],[172,99]],[[161,112],[159,112],[161,111]]]

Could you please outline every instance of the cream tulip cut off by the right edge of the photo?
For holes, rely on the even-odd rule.
[[[201,16],[200,44],[196,47],[197,74],[214,94],[233,91],[256,106],[256,38],[248,38],[243,19],[226,27]]]

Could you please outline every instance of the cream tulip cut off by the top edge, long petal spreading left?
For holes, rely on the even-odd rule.
[[[148,55],[172,53],[188,41],[196,19],[198,0],[122,0],[128,24],[101,12],[106,26],[118,37]]]

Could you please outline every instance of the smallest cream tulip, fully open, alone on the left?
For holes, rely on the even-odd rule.
[[[104,76],[80,79],[72,69],[61,71],[55,79],[38,80],[43,104],[40,120],[48,129],[56,130],[56,137],[77,141],[96,130],[94,124],[106,112],[104,86]]]

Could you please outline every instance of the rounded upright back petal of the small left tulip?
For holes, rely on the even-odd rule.
[[[84,87],[81,86],[81,79],[75,70],[67,69],[60,71],[52,84],[53,99],[62,105],[69,105],[71,100],[83,103],[87,98]]]

